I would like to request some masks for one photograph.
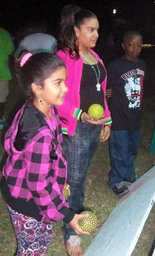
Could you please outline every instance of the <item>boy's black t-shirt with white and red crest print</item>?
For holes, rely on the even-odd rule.
[[[133,62],[122,57],[109,64],[107,88],[112,88],[109,100],[112,130],[134,131],[141,126],[141,100],[146,64],[138,59]]]

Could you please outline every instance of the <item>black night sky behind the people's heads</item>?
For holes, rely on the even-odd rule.
[[[122,36],[129,29],[139,30],[144,43],[155,44],[154,0],[1,0],[0,26],[10,32],[15,47],[24,38],[26,28],[34,22],[46,22],[48,33],[58,39],[60,11],[73,2],[93,11],[99,18],[99,52],[101,48],[104,52],[109,33],[113,34],[115,49],[121,51]]]

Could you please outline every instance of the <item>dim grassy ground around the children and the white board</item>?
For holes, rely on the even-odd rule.
[[[150,67],[152,66],[153,64],[150,64]],[[155,165],[155,156],[149,155],[149,147],[151,144],[151,137],[155,123],[155,82],[153,80],[153,78],[155,78],[155,74],[153,76],[154,77],[152,77],[152,73],[150,71],[147,81],[145,82],[146,89],[142,104],[143,119],[141,128],[141,143],[139,147],[139,154],[135,162],[135,169],[139,175],[143,175]],[[14,78],[10,86],[10,93],[6,104],[6,117],[12,113],[11,110],[17,102],[18,105],[22,104],[23,98],[21,97],[19,100],[19,95],[22,96],[22,90]],[[0,135],[3,136],[2,130],[0,130]],[[3,153],[3,146],[0,144],[0,160],[2,159]],[[117,196],[107,187],[107,174],[109,170],[110,161],[108,142],[99,143],[97,152],[91,162],[87,175],[85,206],[91,208],[102,223],[107,220],[108,216],[111,214],[112,210],[119,201]],[[1,194],[0,216],[0,256],[13,256],[16,250],[16,238],[14,236],[10,217]],[[152,208],[151,213],[149,214],[149,218],[145,223],[145,227],[141,233],[132,256],[151,256],[150,250],[155,238],[154,219],[155,207]],[[61,232],[62,225],[63,222],[53,223],[54,237],[52,243],[50,244],[48,255],[66,256]],[[96,228],[89,236],[82,236],[82,246],[84,251],[93,241],[98,230],[99,229]]]

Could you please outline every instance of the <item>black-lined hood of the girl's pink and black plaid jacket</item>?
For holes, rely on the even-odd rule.
[[[57,123],[57,130],[58,130],[58,140],[60,144],[62,143],[62,129],[60,124],[60,118],[58,116],[58,112],[56,107],[52,108],[52,114],[55,116],[56,123]],[[18,133],[18,130],[22,130],[22,141],[18,140],[16,141],[16,136]],[[42,132],[44,130],[44,132]],[[5,136],[5,150],[8,154],[14,155],[19,154],[19,151],[22,151],[22,153],[27,150],[32,145],[32,138],[34,140],[34,137],[39,133],[43,133],[44,135],[49,135],[49,130],[52,132],[54,140],[55,133],[53,130],[50,129],[48,125],[48,118],[40,111],[38,110],[31,102],[26,102],[22,108],[17,112],[12,125],[8,129],[6,136]],[[25,141],[24,148],[20,148],[20,150],[16,150],[14,144],[16,144],[16,148],[20,147],[20,143]],[[57,144],[57,142],[56,142]]]

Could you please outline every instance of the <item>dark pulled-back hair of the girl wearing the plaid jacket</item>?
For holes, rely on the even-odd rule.
[[[27,53],[27,50],[22,50],[18,55],[16,60],[16,71],[18,80],[24,88],[26,95],[28,98],[34,98],[31,85],[35,83],[44,88],[44,81],[49,78],[52,73],[56,72],[56,70],[65,67],[65,64],[57,56],[41,52],[32,55],[21,67],[20,62]]]

